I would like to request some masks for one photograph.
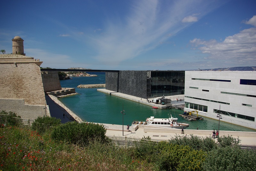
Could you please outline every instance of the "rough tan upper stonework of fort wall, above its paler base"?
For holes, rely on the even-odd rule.
[[[45,105],[40,67],[35,63],[0,63],[0,98],[24,99],[27,105]]]

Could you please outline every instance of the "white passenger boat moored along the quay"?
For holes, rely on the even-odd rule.
[[[146,121],[143,123],[140,122],[140,125],[145,125],[145,126],[151,126],[151,127],[162,127],[162,128],[178,128],[178,129],[186,129],[188,128],[189,124],[188,123],[180,123],[177,122],[178,118],[173,118],[172,115],[169,117],[169,119],[158,119],[155,118],[154,116],[151,116],[150,118],[147,118]],[[138,125],[139,122],[133,121],[132,126]]]

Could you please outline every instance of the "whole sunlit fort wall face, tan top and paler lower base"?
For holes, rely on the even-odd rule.
[[[18,62],[0,61],[0,110],[32,120],[44,116],[46,104],[40,67],[26,60],[12,61]]]

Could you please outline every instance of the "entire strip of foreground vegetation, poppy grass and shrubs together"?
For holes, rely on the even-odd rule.
[[[3,111],[1,112],[3,113]],[[6,114],[6,112],[5,112]],[[8,114],[8,113],[7,113]],[[16,117],[15,113],[12,117]],[[102,125],[39,117],[32,126],[1,119],[0,170],[255,170],[255,150],[241,149],[239,139],[190,135],[154,143],[144,137],[120,146]],[[142,145],[147,144],[148,145]]]

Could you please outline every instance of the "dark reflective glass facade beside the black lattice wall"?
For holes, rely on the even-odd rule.
[[[147,78],[147,98],[180,95],[184,89],[185,71],[150,71]]]

